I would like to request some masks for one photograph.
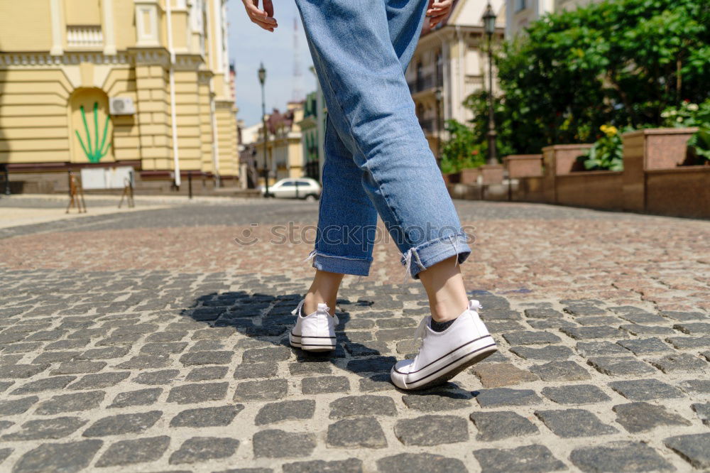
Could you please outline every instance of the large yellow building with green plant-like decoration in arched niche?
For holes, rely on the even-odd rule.
[[[137,190],[236,184],[225,2],[0,2],[0,164],[15,187],[61,192],[67,170],[114,166]]]

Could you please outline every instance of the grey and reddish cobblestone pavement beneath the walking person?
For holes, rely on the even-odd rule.
[[[269,231],[317,202],[0,229],[0,470],[710,469],[710,223],[457,208],[500,352],[415,393],[388,371],[426,297],[391,242],[344,281],[334,354],[288,347],[312,245]]]

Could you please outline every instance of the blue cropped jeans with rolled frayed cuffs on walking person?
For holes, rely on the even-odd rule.
[[[368,276],[380,215],[401,263],[471,254],[415,114],[405,70],[427,0],[295,0],[327,106],[312,266]]]

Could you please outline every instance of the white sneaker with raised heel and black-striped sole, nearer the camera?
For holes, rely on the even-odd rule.
[[[476,310],[478,300],[443,332],[430,327],[427,315],[417,327],[415,337],[422,337],[422,347],[414,359],[398,361],[390,371],[392,382],[402,389],[422,389],[443,384],[472,364],[496,352],[496,342]]]

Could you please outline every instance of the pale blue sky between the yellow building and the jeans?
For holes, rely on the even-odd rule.
[[[310,66],[313,64],[301,19],[293,1],[273,2],[275,31],[266,31],[251,23],[241,0],[227,3],[229,24],[229,59],[236,70],[237,119],[251,126],[261,120],[261,85],[258,80],[259,64],[266,69],[266,112],[286,109],[293,98],[293,21],[297,21],[298,50],[300,51],[301,99],[316,89],[316,79]],[[261,6],[261,1],[259,2]]]

